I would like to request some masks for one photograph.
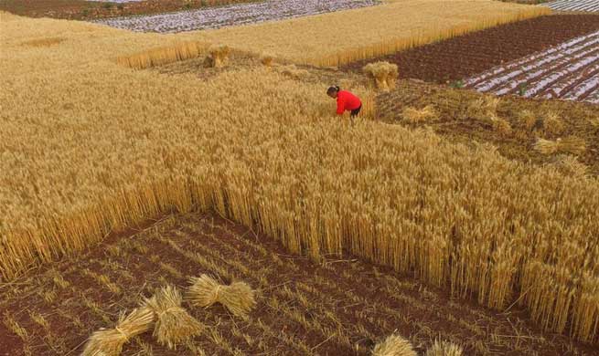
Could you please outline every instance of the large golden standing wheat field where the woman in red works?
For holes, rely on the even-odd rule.
[[[350,128],[324,86],[270,68],[202,81],[116,64],[187,37],[5,14],[0,26],[3,280],[147,217],[214,209],[293,253],[345,251],[597,341],[596,179],[430,131]]]

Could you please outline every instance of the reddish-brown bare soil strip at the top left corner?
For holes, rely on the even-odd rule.
[[[29,17],[92,20],[161,14],[251,1],[254,0],[142,0],[115,4],[116,2],[88,0],[0,0],[0,10]]]

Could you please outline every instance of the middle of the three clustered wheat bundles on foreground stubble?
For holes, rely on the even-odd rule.
[[[203,330],[203,325],[181,307],[182,301],[181,293],[173,286],[161,288],[154,297],[144,301],[144,305],[155,313],[154,336],[171,350]]]

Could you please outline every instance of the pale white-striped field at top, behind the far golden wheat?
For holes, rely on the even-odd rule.
[[[176,33],[324,14],[377,3],[376,0],[269,0],[173,14],[111,18],[98,23],[133,31]]]

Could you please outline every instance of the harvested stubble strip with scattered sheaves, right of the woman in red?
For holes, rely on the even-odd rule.
[[[599,175],[599,107],[564,101],[531,101],[506,97],[497,101],[495,114],[507,120],[509,131],[497,131],[492,120],[481,118],[480,111],[472,108],[481,99],[491,99],[472,90],[450,89],[418,80],[400,80],[390,93],[377,97],[380,120],[401,123],[411,127],[429,127],[449,141],[467,145],[490,143],[502,156],[520,162],[559,167],[558,154],[541,154],[534,150],[538,138],[555,141],[575,136],[586,142],[586,150],[576,155],[577,161],[587,166],[589,174]],[[403,117],[406,108],[421,110],[431,106],[435,115],[429,120],[407,122]],[[528,118],[522,118],[529,112]],[[552,128],[544,128],[542,120],[549,113],[559,118]],[[529,120],[527,122],[526,120]]]

